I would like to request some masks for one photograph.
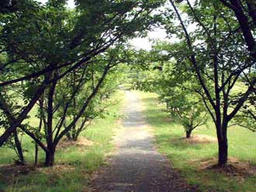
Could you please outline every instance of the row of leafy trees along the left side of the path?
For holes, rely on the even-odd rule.
[[[0,146],[12,145],[21,163],[19,134],[29,135],[54,165],[60,140],[77,139],[106,108],[127,39],[144,35],[157,21],[162,1],[75,1],[46,5],[4,1],[0,13]],[[108,76],[109,74],[109,76]],[[37,108],[37,125],[26,119]]]

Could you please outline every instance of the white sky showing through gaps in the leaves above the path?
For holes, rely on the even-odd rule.
[[[47,0],[36,0],[37,2],[45,3]],[[69,8],[74,8],[74,0],[68,0],[67,6]],[[137,49],[150,50],[151,43],[150,39],[161,39],[161,40],[169,40],[166,38],[166,33],[164,29],[156,28],[154,31],[148,33],[147,38],[136,38],[132,39],[130,43],[135,46]]]

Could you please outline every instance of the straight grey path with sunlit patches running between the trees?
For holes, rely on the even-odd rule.
[[[123,128],[116,134],[116,153],[93,180],[93,191],[197,191],[157,153],[137,94],[125,91]]]

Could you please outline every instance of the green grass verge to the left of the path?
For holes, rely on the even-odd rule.
[[[117,91],[112,99],[123,98],[123,92]],[[0,149],[0,191],[36,191],[36,192],[74,192],[86,191],[92,172],[105,163],[106,154],[112,150],[113,130],[116,124],[122,101],[109,108],[110,115],[96,119],[92,125],[81,133],[91,145],[67,146],[57,150],[56,166],[54,168],[20,168],[3,166],[13,163],[15,157],[11,149]],[[116,114],[116,115],[115,115]],[[28,150],[27,161],[33,161],[33,143],[27,137],[23,138],[24,148]],[[40,160],[44,158],[40,153]],[[19,170],[20,169],[20,170]],[[19,170],[19,171],[13,171]]]

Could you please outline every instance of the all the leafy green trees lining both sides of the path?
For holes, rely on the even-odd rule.
[[[25,133],[46,153],[45,164],[52,166],[61,138],[77,138],[88,119],[102,111],[99,104],[112,89],[107,83],[112,78],[105,81],[107,74],[118,63],[150,60],[157,65],[146,68],[157,74],[157,81],[146,87],[161,94],[168,110],[182,120],[188,137],[212,118],[219,165],[225,166],[228,126],[234,120],[252,130],[255,125],[255,2],[77,0],[75,4],[72,10],[65,0],[46,5],[33,0],[3,2],[0,146],[12,138],[22,159],[19,132]],[[150,53],[127,50],[128,39],[144,36],[156,22],[175,39],[172,43],[158,43]],[[243,88],[236,91],[238,85]],[[36,105],[39,125],[29,125],[24,120]]]

